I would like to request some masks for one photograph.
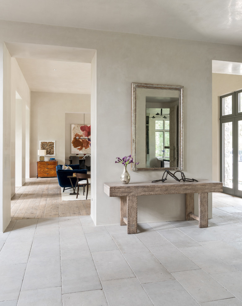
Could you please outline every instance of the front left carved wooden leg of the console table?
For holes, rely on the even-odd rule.
[[[127,233],[137,233],[137,197],[127,197]]]

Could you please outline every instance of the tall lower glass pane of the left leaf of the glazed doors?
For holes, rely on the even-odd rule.
[[[226,122],[223,128],[223,186],[233,188],[233,147],[232,122]]]

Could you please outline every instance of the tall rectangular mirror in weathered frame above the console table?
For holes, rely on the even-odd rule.
[[[132,170],[183,170],[183,86],[132,83]]]

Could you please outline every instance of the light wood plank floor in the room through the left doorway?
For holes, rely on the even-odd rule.
[[[16,187],[11,199],[11,218],[35,219],[90,215],[90,200],[62,201],[56,177],[32,177]]]

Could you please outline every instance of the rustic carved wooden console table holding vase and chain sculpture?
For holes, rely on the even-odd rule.
[[[223,191],[223,183],[199,180],[198,182],[164,183],[104,183],[109,197],[120,197],[120,225],[127,225],[128,234],[137,233],[137,196],[153,194],[186,194],[186,220],[198,220],[199,227],[208,227],[208,193]],[[199,215],[194,215],[194,193],[199,194]]]

